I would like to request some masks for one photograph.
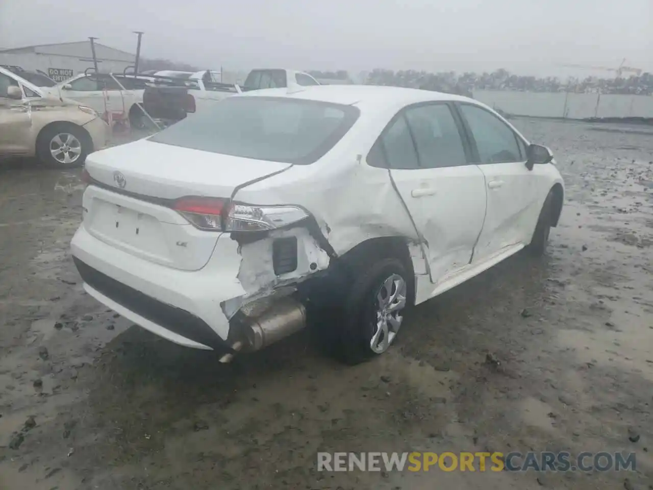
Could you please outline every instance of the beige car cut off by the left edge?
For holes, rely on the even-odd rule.
[[[90,107],[60,99],[0,67],[0,163],[37,156],[49,167],[82,165],[104,148],[108,125]]]

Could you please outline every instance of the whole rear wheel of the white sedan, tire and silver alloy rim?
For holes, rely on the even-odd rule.
[[[411,282],[399,259],[380,259],[357,274],[340,322],[343,361],[356,364],[381,355],[394,343],[410,303]]]

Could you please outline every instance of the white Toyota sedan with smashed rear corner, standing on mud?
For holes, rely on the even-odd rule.
[[[487,106],[375,86],[229,97],[84,178],[86,291],[225,362],[311,316],[349,361],[379,355],[407,308],[542,253],[564,198],[549,149]]]

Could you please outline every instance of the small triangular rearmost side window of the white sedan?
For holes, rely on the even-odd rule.
[[[415,145],[403,115],[381,133],[368,155],[368,163],[372,167],[388,169],[419,168]]]

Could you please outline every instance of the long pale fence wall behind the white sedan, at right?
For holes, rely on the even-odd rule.
[[[515,116],[536,118],[653,118],[650,95],[475,90],[477,101]]]

